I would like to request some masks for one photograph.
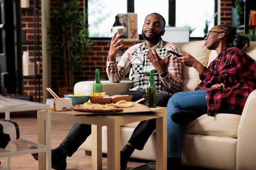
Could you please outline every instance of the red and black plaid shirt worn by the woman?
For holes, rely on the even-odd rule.
[[[222,109],[243,111],[249,94],[256,89],[254,77],[255,61],[241,49],[224,49],[204,68],[202,82],[195,90],[206,89],[207,115],[213,116]],[[226,88],[213,88],[213,84],[224,83]]]

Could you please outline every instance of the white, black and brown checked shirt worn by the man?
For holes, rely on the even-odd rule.
[[[167,52],[168,50],[180,53],[180,49],[175,44],[164,42],[162,39],[154,48],[163,59],[170,54]],[[177,60],[175,55],[172,55],[169,58],[168,75],[162,78],[153,64],[147,59],[147,50],[148,46],[145,42],[141,42],[127,49],[118,64],[116,60],[109,62],[107,59],[106,72],[110,82],[120,82],[130,72],[130,68],[132,68],[132,84],[129,90],[146,91],[149,82],[149,72],[154,70],[157,92],[164,92],[169,95],[179,92],[182,87],[182,62]]]

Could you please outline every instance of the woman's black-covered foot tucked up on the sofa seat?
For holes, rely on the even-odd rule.
[[[201,113],[199,111],[179,110],[171,115],[171,119],[176,124],[187,124],[202,115],[204,115],[204,113]]]

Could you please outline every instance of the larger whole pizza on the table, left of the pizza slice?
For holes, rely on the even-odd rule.
[[[94,113],[111,113],[111,112],[122,112],[123,109],[108,104],[94,104],[85,102],[84,104],[76,104],[72,109],[83,112],[94,112]]]

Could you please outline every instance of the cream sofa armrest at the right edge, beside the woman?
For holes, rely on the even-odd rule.
[[[250,93],[246,100],[238,126],[236,169],[256,167],[256,90]]]

